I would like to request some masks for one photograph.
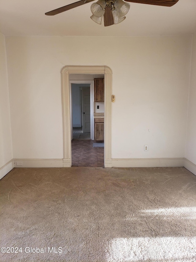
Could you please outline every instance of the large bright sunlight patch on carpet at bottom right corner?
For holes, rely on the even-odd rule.
[[[195,261],[196,237],[115,238],[108,243],[108,262]]]

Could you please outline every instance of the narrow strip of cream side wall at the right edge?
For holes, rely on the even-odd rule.
[[[196,34],[193,36],[185,157],[196,165]]]

